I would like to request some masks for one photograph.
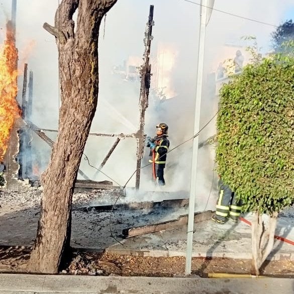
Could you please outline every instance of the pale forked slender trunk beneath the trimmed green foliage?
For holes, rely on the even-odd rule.
[[[251,273],[259,275],[260,267],[272,250],[274,232],[277,224],[278,213],[274,212],[269,217],[269,224],[266,227],[262,215],[253,213],[252,221],[252,262]]]

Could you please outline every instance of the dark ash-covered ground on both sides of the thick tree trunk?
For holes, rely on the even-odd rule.
[[[40,217],[42,190],[28,187],[26,191],[1,191],[0,245],[32,246]],[[72,201],[71,246],[104,250],[124,242],[123,229],[176,219],[187,214],[186,207],[149,207],[126,209],[127,197],[120,188],[74,192]],[[113,206],[97,211],[93,207]]]

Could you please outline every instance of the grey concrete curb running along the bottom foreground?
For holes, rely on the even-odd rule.
[[[294,280],[284,278],[159,278],[0,274],[0,294],[293,294]]]

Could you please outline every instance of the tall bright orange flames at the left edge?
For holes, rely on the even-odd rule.
[[[14,121],[20,115],[17,96],[18,52],[12,31],[7,26],[7,39],[0,46],[0,160],[3,159]]]

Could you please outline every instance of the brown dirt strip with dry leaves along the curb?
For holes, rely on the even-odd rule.
[[[30,249],[0,247],[0,272],[26,272]],[[192,275],[209,277],[213,273],[250,274],[251,261],[229,258],[193,258]],[[73,252],[61,274],[181,277],[185,257],[140,257],[112,253]],[[294,261],[266,261],[261,275],[294,278]]]

